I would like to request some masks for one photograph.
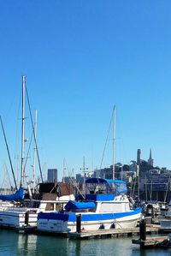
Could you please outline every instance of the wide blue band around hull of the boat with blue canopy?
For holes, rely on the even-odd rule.
[[[127,212],[118,212],[118,213],[83,213],[82,214],[82,221],[99,221],[99,220],[108,220],[108,219],[117,219],[121,217],[133,216],[141,212],[140,208],[136,208],[133,211]],[[38,213],[38,220],[39,219],[54,219],[54,220],[61,220],[63,222],[75,222],[77,215],[75,213],[64,214],[64,213],[56,213],[56,212],[40,212]]]

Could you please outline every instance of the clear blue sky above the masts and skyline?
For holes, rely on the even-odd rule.
[[[171,168],[170,13],[166,0],[1,1],[0,112],[15,169],[22,74],[38,110],[44,173],[57,168],[62,177],[63,158],[74,173],[83,156],[99,167],[114,104],[116,162],[136,159],[138,148],[146,160],[151,148],[154,164]],[[29,138],[28,119],[26,127]]]

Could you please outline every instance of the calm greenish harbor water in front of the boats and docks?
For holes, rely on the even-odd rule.
[[[140,250],[132,237],[73,240],[51,235],[19,234],[0,230],[0,255],[15,256],[170,256],[171,248]]]

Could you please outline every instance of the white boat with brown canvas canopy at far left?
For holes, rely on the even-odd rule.
[[[0,207],[0,226],[21,229],[26,226],[36,227],[38,212],[59,211],[74,200],[71,186],[66,183],[41,183],[39,193],[32,199],[24,199],[17,205]]]

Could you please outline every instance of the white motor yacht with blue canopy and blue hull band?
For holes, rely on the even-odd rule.
[[[81,229],[131,229],[141,219],[141,208],[133,208],[126,182],[90,178],[85,181],[85,200],[68,201],[61,212],[38,213],[38,230],[54,233],[76,231],[77,216]]]

